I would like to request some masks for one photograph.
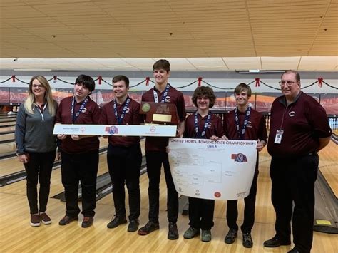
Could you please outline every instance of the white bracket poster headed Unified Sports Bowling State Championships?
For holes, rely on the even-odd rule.
[[[170,138],[169,160],[176,190],[210,200],[247,197],[255,174],[256,140]]]

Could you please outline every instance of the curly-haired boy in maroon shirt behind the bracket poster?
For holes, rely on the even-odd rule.
[[[196,88],[192,100],[198,110],[186,118],[183,138],[208,138],[211,140],[222,138],[222,120],[209,110],[216,100],[212,88],[205,86]],[[185,231],[183,237],[185,239],[192,239],[200,234],[201,229],[201,241],[210,242],[211,228],[214,225],[214,210],[215,200],[189,197],[190,227]]]

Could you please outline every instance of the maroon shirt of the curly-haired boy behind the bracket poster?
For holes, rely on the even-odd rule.
[[[198,130],[199,130],[198,133],[202,133],[207,118],[208,115],[202,118],[202,116],[198,114]],[[208,128],[205,130],[205,138],[209,139],[212,135],[215,135],[219,138],[223,136],[222,120],[214,114],[211,114]],[[184,138],[196,138],[195,113],[189,115],[185,119],[185,128],[183,136]]]

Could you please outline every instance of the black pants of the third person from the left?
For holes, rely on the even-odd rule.
[[[140,216],[140,167],[142,153],[140,143],[130,147],[108,145],[107,163],[113,184],[113,200],[116,216],[126,215],[124,185],[129,195],[129,220]]]

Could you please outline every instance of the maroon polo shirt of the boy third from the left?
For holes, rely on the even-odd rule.
[[[118,116],[121,117],[123,113],[123,108],[126,105],[126,101],[123,104],[117,103],[117,111]],[[122,119],[122,125],[140,125],[142,122],[142,116],[139,113],[140,104],[137,103],[135,100],[130,98],[130,103],[126,109],[126,113]],[[114,110],[114,100],[107,103],[103,106],[101,110],[101,117],[100,117],[100,124],[101,125],[118,125],[118,119],[115,116]],[[129,147],[135,143],[140,143],[139,136],[109,136],[108,142],[114,146],[124,146]]]

